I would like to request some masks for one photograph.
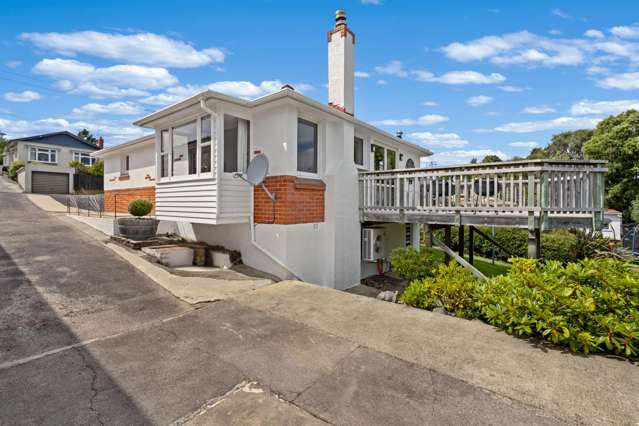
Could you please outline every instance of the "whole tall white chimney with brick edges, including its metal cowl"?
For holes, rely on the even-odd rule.
[[[335,12],[328,32],[328,104],[353,115],[355,90],[355,34],[346,25],[346,12]]]

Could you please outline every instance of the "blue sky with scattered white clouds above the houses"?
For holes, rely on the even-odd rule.
[[[254,98],[293,84],[326,102],[326,32],[356,34],[355,114],[429,161],[525,155],[563,130],[639,108],[637,1],[5,1],[0,131],[134,119],[210,87]]]

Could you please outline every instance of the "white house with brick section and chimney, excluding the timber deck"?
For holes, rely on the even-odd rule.
[[[155,173],[146,139],[101,151],[105,190],[119,190],[125,173],[136,188],[151,176],[156,216],[197,240],[239,250],[246,264],[281,278],[358,284],[375,271],[361,261],[358,171],[415,167],[431,152],[355,118],[354,47],[338,11],[328,32],[328,105],[289,85],[250,101],[207,90],[136,121],[155,132]],[[235,176],[257,154],[269,159],[274,203]],[[147,161],[133,183],[137,156]],[[132,161],[126,170],[123,158]],[[380,227],[386,250],[406,243],[406,225]],[[419,241],[418,226],[408,232],[409,243]]]

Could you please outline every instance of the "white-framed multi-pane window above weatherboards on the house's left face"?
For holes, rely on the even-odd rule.
[[[210,116],[211,117],[211,142],[207,142],[202,144],[202,118]],[[215,120],[216,120],[216,115],[211,115],[209,113],[203,112],[201,114],[198,114],[197,116],[193,117],[189,117],[183,120],[180,120],[174,124],[172,124],[171,126],[166,126],[166,127],[162,127],[158,130],[158,147],[157,147],[157,152],[158,152],[158,164],[157,164],[157,175],[159,176],[159,181],[160,182],[179,182],[179,181],[187,181],[187,180],[196,180],[196,179],[210,179],[212,177],[214,177],[214,170],[216,170],[217,168],[217,164],[214,163],[214,152],[215,152],[215,145],[214,142],[217,143],[217,140],[219,139],[215,133]],[[190,123],[192,121],[195,120],[196,123],[196,155],[195,155],[195,161],[196,161],[196,173],[195,174],[186,174],[186,175],[180,175],[180,176],[173,176],[173,129],[176,127],[180,127],[184,124]],[[165,147],[165,151],[162,151],[162,132],[168,130],[169,131],[169,140],[167,147]],[[201,160],[201,149],[202,146],[207,146],[208,144],[211,144],[211,171],[210,172],[204,172],[202,173],[202,160]],[[168,149],[168,151],[167,151]],[[168,155],[168,170],[167,170],[167,176],[162,177],[162,155]]]

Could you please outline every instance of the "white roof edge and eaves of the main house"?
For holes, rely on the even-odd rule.
[[[149,125],[151,122],[158,120],[162,117],[165,117],[169,114],[175,113],[177,111],[186,109],[190,106],[193,106],[194,104],[200,102],[200,100],[204,100],[206,101],[207,99],[218,99],[221,101],[225,101],[225,102],[229,102],[229,103],[234,103],[236,105],[240,105],[240,106],[244,106],[247,108],[252,108],[252,107],[256,107],[259,105],[263,105],[263,104],[267,104],[269,102],[274,102],[278,99],[284,99],[284,98],[289,98],[289,99],[294,99],[298,102],[301,102],[307,106],[310,106],[312,108],[318,109],[322,112],[328,113],[330,115],[333,115],[337,118],[340,118],[342,120],[346,120],[349,121],[353,124],[356,124],[358,126],[364,127],[369,131],[372,131],[374,133],[377,133],[379,135],[383,135],[386,138],[390,138],[400,144],[409,146],[411,148],[413,148],[414,150],[418,151],[421,155],[424,156],[428,156],[428,155],[432,155],[432,151],[430,151],[429,149],[423,148],[417,144],[408,142],[405,139],[401,139],[398,138],[395,135],[392,135],[382,129],[379,129],[369,123],[366,123],[365,121],[359,120],[355,117],[353,117],[350,114],[347,114],[345,112],[339,111],[335,108],[332,108],[328,105],[324,105],[323,103],[320,103],[318,101],[316,101],[315,99],[309,98],[308,96],[302,95],[298,92],[296,92],[294,89],[291,89],[289,87],[284,86],[284,88],[282,88],[281,90],[279,90],[278,92],[275,93],[271,93],[265,96],[262,96],[260,98],[257,99],[253,99],[250,101],[247,101],[245,99],[241,99],[241,98],[236,98],[234,96],[228,96],[225,95],[223,93],[219,93],[219,92],[215,92],[213,90],[205,90],[203,92],[197,93],[193,96],[191,96],[190,98],[187,98],[183,101],[177,102],[173,105],[170,105],[166,108],[162,108],[152,114],[147,115],[146,117],[143,117],[137,121],[135,121],[133,124],[135,124],[136,126],[141,126],[141,127],[145,127],[147,125]]]

